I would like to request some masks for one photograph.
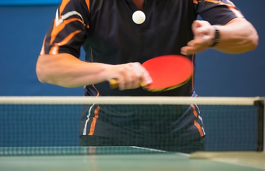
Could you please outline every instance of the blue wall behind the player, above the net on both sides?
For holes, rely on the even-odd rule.
[[[0,0],[0,4],[15,1]],[[58,1],[16,1],[15,3],[58,3]],[[265,1],[233,0],[260,36],[256,50],[230,55],[207,50],[197,55],[195,90],[200,96],[265,96],[264,22]],[[42,84],[35,64],[42,41],[57,5],[0,6],[0,96],[82,96],[80,88]],[[84,53],[82,52],[84,59]]]

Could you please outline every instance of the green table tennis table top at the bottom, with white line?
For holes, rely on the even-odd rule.
[[[31,151],[30,151],[31,150]],[[8,151],[8,155],[7,152]],[[130,154],[127,152],[130,151]],[[16,155],[10,155],[15,152]],[[236,152],[235,152],[236,153]],[[255,153],[255,152],[253,152]],[[139,147],[35,147],[0,148],[1,171],[264,171],[259,165],[236,161],[191,159],[184,153],[168,153]],[[245,154],[249,156],[249,154]],[[240,153],[238,156],[242,156]],[[196,157],[195,157],[196,158]],[[263,160],[265,161],[265,160]]]

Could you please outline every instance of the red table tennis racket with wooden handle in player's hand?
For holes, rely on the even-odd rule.
[[[158,56],[147,60],[142,66],[149,72],[153,82],[148,85],[141,83],[141,86],[152,92],[178,88],[187,83],[193,75],[192,61],[183,55]],[[119,87],[116,79],[109,80],[109,84],[111,88]]]

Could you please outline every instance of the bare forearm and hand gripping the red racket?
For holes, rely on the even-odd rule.
[[[36,73],[40,82],[64,87],[96,84],[116,78],[119,80],[120,90],[124,90],[140,87],[141,81],[151,81],[149,74],[139,63],[88,63],[66,53],[40,55]]]

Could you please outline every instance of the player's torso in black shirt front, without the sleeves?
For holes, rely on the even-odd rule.
[[[90,0],[87,41],[83,45],[88,62],[106,64],[143,63],[165,54],[180,54],[181,47],[193,39],[191,24],[197,15],[192,0]],[[142,24],[132,20],[139,10],[146,14]],[[188,56],[193,62],[192,56]],[[195,66],[195,63],[194,63]],[[151,93],[142,90],[119,91],[109,83],[94,85],[101,96],[191,96],[193,80],[172,91]],[[92,85],[87,96],[95,96]]]

